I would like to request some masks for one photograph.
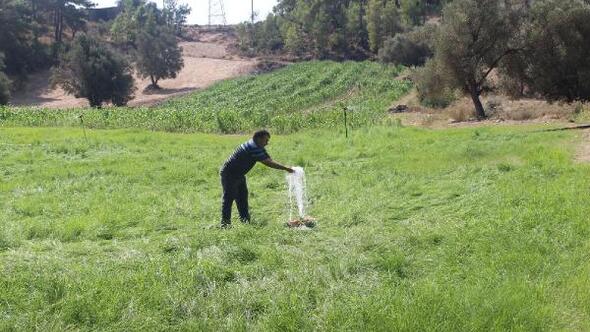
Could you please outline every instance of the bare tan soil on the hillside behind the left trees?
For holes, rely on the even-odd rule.
[[[162,80],[158,91],[144,91],[149,78],[135,77],[137,90],[131,106],[153,105],[173,96],[205,88],[217,81],[252,72],[256,62],[230,54],[227,49],[232,42],[221,34],[204,35],[196,42],[183,42],[184,68],[175,79]],[[30,76],[24,89],[14,93],[13,105],[33,105],[49,108],[72,108],[88,106],[82,98],[67,95],[61,88],[51,89],[48,70]]]

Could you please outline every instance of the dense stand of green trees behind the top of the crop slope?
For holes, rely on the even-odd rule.
[[[450,0],[279,0],[262,24],[238,28],[240,47],[248,53],[288,51],[332,59],[373,58],[386,40],[438,15]],[[271,24],[273,42],[268,35]]]

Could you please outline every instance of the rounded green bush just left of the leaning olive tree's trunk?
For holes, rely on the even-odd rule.
[[[453,75],[436,59],[430,59],[413,75],[420,102],[428,107],[444,108],[457,99]]]

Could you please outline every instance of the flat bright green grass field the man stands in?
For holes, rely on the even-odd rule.
[[[255,223],[215,227],[245,137],[2,129],[0,330],[588,330],[590,169],[532,129],[273,137],[308,232],[261,166]]]

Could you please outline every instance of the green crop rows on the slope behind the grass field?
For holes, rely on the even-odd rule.
[[[342,122],[342,106],[355,112],[356,126],[379,122],[410,84],[395,80],[401,68],[372,62],[306,62],[276,72],[227,80],[174,99],[161,107],[103,110],[0,108],[1,126],[144,128],[175,132],[249,132],[266,127],[289,133],[331,128]],[[348,93],[353,91],[351,96]],[[341,100],[342,103],[334,103]]]

